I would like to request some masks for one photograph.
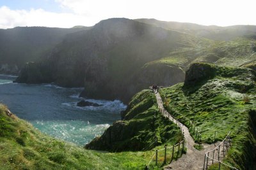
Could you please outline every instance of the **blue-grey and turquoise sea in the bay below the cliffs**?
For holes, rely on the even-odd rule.
[[[109,125],[120,120],[120,111],[127,107],[118,100],[81,98],[82,88],[13,83],[15,78],[0,74],[0,103],[41,132],[76,145],[83,146],[100,136]],[[76,106],[82,99],[102,106]]]

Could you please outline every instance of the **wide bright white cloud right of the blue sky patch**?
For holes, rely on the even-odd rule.
[[[256,24],[254,0],[55,0],[62,8],[93,20],[156,18],[203,25]]]

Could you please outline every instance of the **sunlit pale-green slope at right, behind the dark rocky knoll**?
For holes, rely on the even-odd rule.
[[[256,60],[256,41],[250,38],[236,38],[232,41],[212,41],[203,38],[184,39],[184,48],[171,52],[168,56],[148,62],[166,64],[186,69],[195,62],[215,62],[220,66],[241,66]]]

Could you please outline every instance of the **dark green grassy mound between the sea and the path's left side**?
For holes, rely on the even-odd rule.
[[[159,113],[156,97],[151,90],[143,90],[132,97],[122,121],[111,125],[102,136],[93,139],[86,148],[125,151],[151,150],[164,144],[182,140],[177,125]]]

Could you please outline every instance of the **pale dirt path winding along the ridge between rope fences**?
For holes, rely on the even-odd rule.
[[[179,122],[177,122],[176,120],[173,120],[172,115],[170,115],[168,113],[168,111],[166,111],[163,107],[163,101],[161,99],[160,94],[157,92],[155,93],[156,99],[157,99],[157,104],[158,107],[161,110],[161,113],[164,115],[164,117],[169,117],[169,119],[174,122],[175,124],[179,124]],[[183,154],[182,157],[180,159],[178,159],[177,161],[172,162],[172,164],[169,164],[167,166],[164,167],[164,169],[178,169],[178,170],[184,170],[184,169],[203,169],[204,166],[204,156],[205,156],[205,152],[212,150],[213,148],[215,148],[214,144],[212,145],[207,145],[207,144],[202,144],[202,146],[204,147],[203,150],[196,150],[196,148],[194,148],[195,145],[195,141],[194,139],[190,136],[189,131],[188,131],[188,127],[186,127],[183,124],[180,124],[180,126],[182,127],[182,129],[184,129],[184,138],[185,138],[185,146],[187,148],[187,153]],[[216,143],[216,146],[218,145],[218,143]],[[220,152],[220,160],[223,159],[223,153]],[[210,157],[212,157],[212,155],[209,155]],[[218,157],[218,152],[216,151],[214,154],[214,157]],[[209,164],[212,164],[212,162],[209,160]]]

